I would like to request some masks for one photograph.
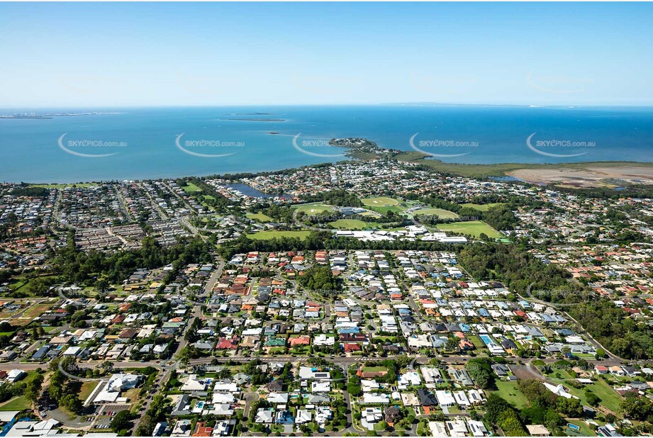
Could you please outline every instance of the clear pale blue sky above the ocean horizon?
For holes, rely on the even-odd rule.
[[[4,107],[652,105],[653,4],[0,4]]]

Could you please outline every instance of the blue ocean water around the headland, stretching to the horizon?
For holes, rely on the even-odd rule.
[[[0,114],[91,111],[97,113],[0,118],[0,181],[69,183],[287,169],[346,159],[341,148],[327,145],[333,137],[416,148],[444,162],[653,161],[653,108],[6,108]]]

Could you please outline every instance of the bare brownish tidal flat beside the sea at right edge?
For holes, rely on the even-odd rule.
[[[653,167],[590,165],[584,169],[517,169],[507,172],[533,184],[557,183],[574,187],[618,186],[619,181],[631,184],[653,184]]]

